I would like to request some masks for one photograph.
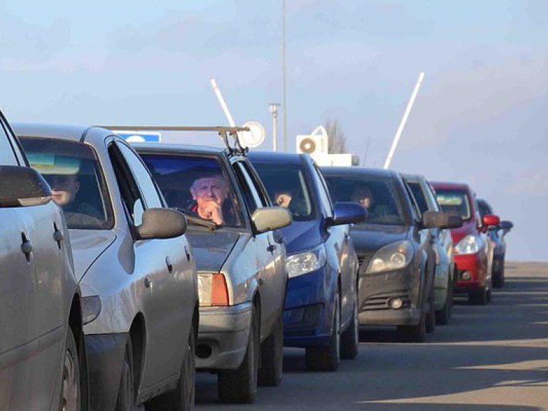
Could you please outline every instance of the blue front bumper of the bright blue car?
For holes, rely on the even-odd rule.
[[[334,278],[334,279],[333,279]],[[283,310],[285,347],[322,346],[329,342],[336,276],[328,265],[289,278]]]

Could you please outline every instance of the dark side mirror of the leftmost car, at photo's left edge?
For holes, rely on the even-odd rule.
[[[51,188],[30,167],[0,166],[0,207],[29,207],[51,201]]]

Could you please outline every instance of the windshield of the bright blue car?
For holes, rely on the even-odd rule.
[[[253,161],[268,196],[276,205],[288,208],[293,220],[313,220],[313,196],[300,164],[259,163]]]

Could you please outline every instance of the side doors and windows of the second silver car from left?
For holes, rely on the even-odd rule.
[[[141,225],[144,211],[162,208],[163,198],[131,148],[116,141],[109,153],[129,211],[128,224]],[[194,309],[196,271],[184,236],[136,240],[131,263],[135,282],[144,285],[141,306],[146,323],[146,354],[141,390],[146,390],[180,371]]]

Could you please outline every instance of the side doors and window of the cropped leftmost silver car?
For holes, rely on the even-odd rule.
[[[18,151],[1,121],[0,165],[26,166]],[[54,240],[61,213],[51,201],[0,206],[0,221],[0,410],[46,409],[59,380],[66,332],[64,246],[58,249]]]

